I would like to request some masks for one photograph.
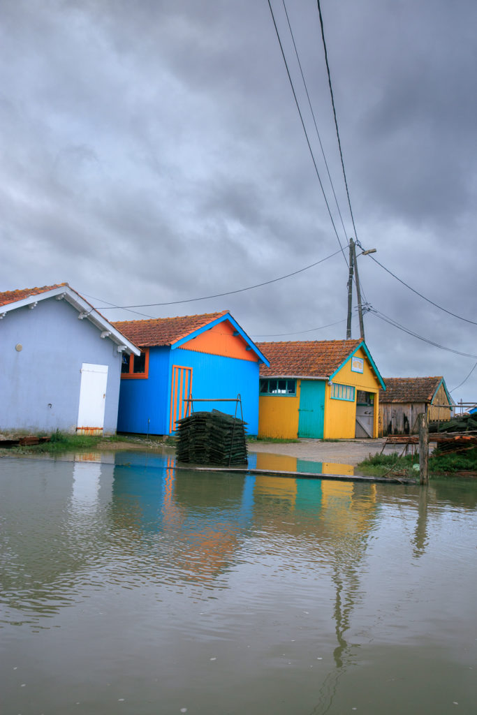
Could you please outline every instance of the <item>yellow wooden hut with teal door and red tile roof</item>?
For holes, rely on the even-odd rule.
[[[383,379],[362,340],[260,342],[258,435],[293,439],[378,436]]]

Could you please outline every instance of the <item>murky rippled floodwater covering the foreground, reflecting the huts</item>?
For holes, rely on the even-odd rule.
[[[477,485],[0,460],[3,715],[474,714]]]

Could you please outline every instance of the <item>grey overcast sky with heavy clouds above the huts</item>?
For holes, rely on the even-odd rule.
[[[344,229],[282,0],[272,8],[334,227],[267,0],[2,0],[0,290],[67,281],[112,320],[228,309],[257,341],[345,337],[339,250],[354,230],[318,6],[285,2]],[[322,12],[358,240],[477,322],[476,2],[322,0]],[[234,295],[105,309],[239,290],[335,253]],[[470,356],[368,313],[381,375],[461,383],[477,325],[369,255],[358,267],[373,310]],[[452,394],[477,400],[477,368]]]

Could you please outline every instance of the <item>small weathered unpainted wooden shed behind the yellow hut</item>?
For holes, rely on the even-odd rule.
[[[452,417],[453,400],[440,375],[433,378],[386,378],[379,393],[379,435],[410,435],[418,432],[418,415],[430,422]]]

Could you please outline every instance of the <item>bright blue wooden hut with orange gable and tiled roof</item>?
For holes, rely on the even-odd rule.
[[[141,349],[139,357],[124,355],[119,431],[169,435],[191,405],[234,415],[237,403],[224,400],[240,395],[247,431],[257,434],[259,369],[268,360],[227,310],[114,326]]]

